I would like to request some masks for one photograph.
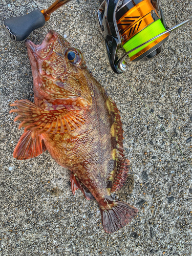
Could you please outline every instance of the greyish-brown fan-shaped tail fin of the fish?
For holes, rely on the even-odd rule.
[[[111,209],[101,209],[102,224],[105,232],[112,233],[124,227],[137,215],[138,209],[121,201],[115,201]],[[102,207],[103,208],[103,207]]]

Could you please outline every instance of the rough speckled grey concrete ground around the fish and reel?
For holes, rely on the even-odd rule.
[[[191,23],[171,34],[155,59],[129,63],[124,76],[109,66],[95,0],[72,1],[29,36],[37,44],[50,29],[66,35],[121,112],[131,170],[116,197],[139,213],[131,224],[107,234],[97,203],[80,191],[73,196],[68,170],[48,152],[26,161],[13,158],[23,130],[9,114],[10,103],[33,101],[33,82],[26,47],[10,41],[3,20],[52,2],[0,3],[0,255],[192,255]],[[169,27],[192,13],[189,0],[162,0],[161,7]]]

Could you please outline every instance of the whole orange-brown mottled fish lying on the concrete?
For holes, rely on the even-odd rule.
[[[96,200],[105,232],[127,225],[138,209],[112,193],[125,183],[130,162],[124,156],[120,113],[112,98],[88,70],[82,53],[51,30],[41,45],[25,45],[33,75],[34,103],[16,100],[19,138],[13,157],[37,157],[46,150],[70,170],[72,193],[80,189]]]

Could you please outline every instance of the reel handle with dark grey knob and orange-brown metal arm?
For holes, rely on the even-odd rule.
[[[51,13],[71,0],[56,0],[48,9],[34,10],[27,15],[8,18],[4,21],[7,35],[14,41],[25,40],[35,29],[41,28],[50,19]]]

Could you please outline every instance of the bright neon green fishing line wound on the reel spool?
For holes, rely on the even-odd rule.
[[[152,23],[145,29],[141,30],[138,34],[136,34],[134,37],[132,37],[129,41],[125,42],[123,45],[123,48],[126,52],[134,49],[135,47],[143,44],[143,42],[146,42],[147,40],[153,38],[154,36],[162,33],[165,31],[165,28],[163,27],[163,24],[161,23],[161,20],[158,19],[156,22]],[[156,40],[156,39],[155,39]],[[155,41],[153,40],[153,41]],[[129,54],[129,57],[132,57],[142,49],[144,49],[146,46],[150,45],[153,41],[148,42],[148,44],[141,46],[137,50],[131,52]]]

